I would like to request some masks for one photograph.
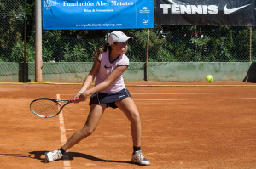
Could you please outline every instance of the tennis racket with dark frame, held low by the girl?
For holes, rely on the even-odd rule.
[[[65,103],[61,105],[61,103]],[[34,99],[30,104],[30,110],[35,115],[41,118],[51,118],[59,115],[61,110],[67,105],[73,103],[73,99],[70,100],[58,100],[49,98]]]

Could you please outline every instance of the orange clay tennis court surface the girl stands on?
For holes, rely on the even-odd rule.
[[[42,119],[29,104],[47,97],[71,99],[77,84],[0,84],[1,168],[143,168],[131,164],[130,123],[108,108],[96,131],[63,160],[44,163],[84,126],[89,100],[68,104]],[[141,114],[143,154],[149,168],[256,168],[256,85],[244,82],[127,82]]]

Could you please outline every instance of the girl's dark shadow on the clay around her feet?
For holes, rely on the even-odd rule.
[[[29,154],[33,155],[35,159],[38,159],[41,162],[45,162],[44,159],[44,153],[46,151],[32,151],[29,152]],[[101,159],[92,155],[86,155],[83,153],[77,153],[77,152],[68,152],[65,154],[66,156],[68,155],[68,161],[73,161],[74,158],[76,157],[80,157],[80,158],[84,158],[90,161],[101,161],[101,162],[114,162],[114,163],[128,163],[128,164],[132,164],[131,161],[114,161],[114,160],[105,160],[105,159]],[[32,157],[30,157],[32,158]],[[61,161],[65,161],[63,158],[60,159]]]

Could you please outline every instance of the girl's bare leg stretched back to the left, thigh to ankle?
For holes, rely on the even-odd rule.
[[[73,147],[73,145],[78,144],[82,139],[90,136],[90,134],[96,129],[105,109],[106,104],[91,105],[90,113],[84,127],[79,131],[74,132],[73,135],[67,140],[67,143],[62,146],[62,149],[67,151],[67,149],[70,149]]]

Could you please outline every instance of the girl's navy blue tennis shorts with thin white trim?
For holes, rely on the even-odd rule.
[[[113,109],[117,108],[115,104],[116,101],[125,99],[127,97],[131,98],[131,94],[124,88],[116,93],[94,93],[90,96],[90,103],[92,104],[107,104],[107,107],[112,107]]]

